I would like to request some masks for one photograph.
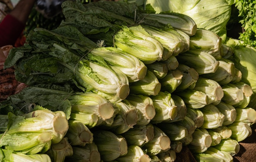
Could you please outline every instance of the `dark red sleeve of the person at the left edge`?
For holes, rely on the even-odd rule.
[[[6,45],[14,46],[24,28],[25,24],[11,15],[6,15],[0,23],[0,47]]]

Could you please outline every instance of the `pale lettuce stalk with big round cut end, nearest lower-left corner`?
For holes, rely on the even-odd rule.
[[[68,121],[62,111],[38,109],[22,116],[9,112],[8,116],[11,122],[8,134],[50,132],[52,143],[58,143],[68,130]]]

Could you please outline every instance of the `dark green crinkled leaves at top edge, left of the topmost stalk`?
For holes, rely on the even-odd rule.
[[[85,7],[81,2],[65,1],[62,4],[62,8],[63,14],[65,15],[65,22],[60,26],[66,23],[73,26],[80,26],[79,31],[84,35],[97,34],[97,31],[108,31],[110,27],[116,28],[115,24],[134,24],[132,20],[121,15],[103,10],[99,7]]]

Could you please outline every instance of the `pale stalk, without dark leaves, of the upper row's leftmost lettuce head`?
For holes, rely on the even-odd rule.
[[[58,45],[54,44],[54,46]],[[111,102],[119,102],[129,94],[128,78],[124,73],[119,72],[120,70],[115,69],[114,72],[109,67],[106,68],[89,60],[79,61],[75,66],[62,61],[59,63],[74,72],[79,84],[85,88],[90,85],[96,93],[106,94]],[[97,81],[98,79],[101,82]]]

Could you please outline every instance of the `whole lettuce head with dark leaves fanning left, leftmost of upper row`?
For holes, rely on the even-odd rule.
[[[74,36],[76,35],[76,36]],[[129,94],[128,78],[102,57],[88,53],[96,44],[72,26],[53,31],[36,28],[28,44],[9,53],[5,66],[16,64],[16,79],[27,85],[72,84],[83,92],[119,102]]]

